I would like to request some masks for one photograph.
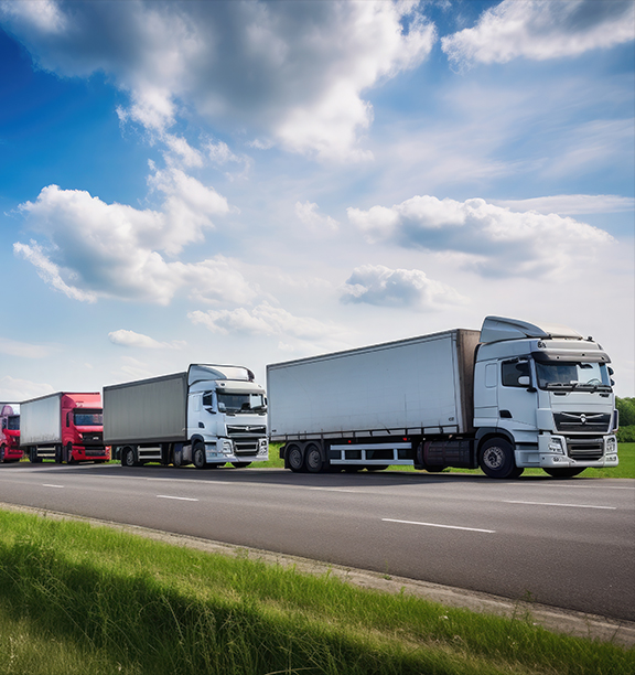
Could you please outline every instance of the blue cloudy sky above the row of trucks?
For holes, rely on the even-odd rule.
[[[635,395],[634,8],[0,0],[0,400],[487,314]]]

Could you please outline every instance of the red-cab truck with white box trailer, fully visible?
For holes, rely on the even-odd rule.
[[[98,392],[49,394],[21,404],[20,446],[31,462],[107,462],[101,425]]]

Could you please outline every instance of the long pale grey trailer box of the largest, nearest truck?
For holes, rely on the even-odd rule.
[[[446,331],[269,365],[271,438],[463,432],[471,375],[459,368],[472,367],[477,335]]]

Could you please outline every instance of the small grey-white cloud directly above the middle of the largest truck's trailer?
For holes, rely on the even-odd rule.
[[[342,288],[341,300],[344,303],[364,302],[421,311],[467,302],[452,287],[428,278],[418,269],[390,269],[383,265],[355,268]]]

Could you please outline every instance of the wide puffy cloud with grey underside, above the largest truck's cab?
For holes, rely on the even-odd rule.
[[[592,260],[612,242],[606,232],[571,217],[515,213],[473,199],[415,196],[388,208],[348,208],[348,218],[372,243],[461,254],[483,276],[542,276]]]

